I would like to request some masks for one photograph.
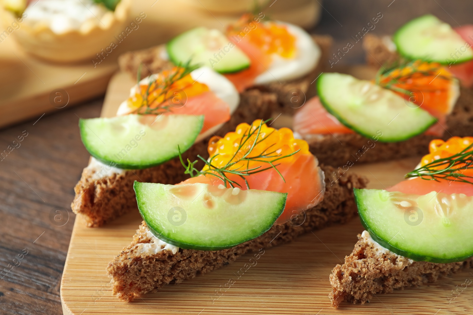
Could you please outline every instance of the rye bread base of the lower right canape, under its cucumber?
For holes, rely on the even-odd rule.
[[[416,262],[375,246],[368,238],[358,234],[358,242],[343,265],[337,264],[330,275],[332,306],[342,302],[369,302],[377,293],[390,293],[394,289],[417,287],[435,282],[441,276],[473,267],[473,257],[464,262],[435,264]]]

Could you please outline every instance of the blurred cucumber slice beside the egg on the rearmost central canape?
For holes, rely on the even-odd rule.
[[[167,54],[176,65],[192,60],[219,73],[232,73],[250,66],[250,59],[219,30],[196,27],[169,41]]]

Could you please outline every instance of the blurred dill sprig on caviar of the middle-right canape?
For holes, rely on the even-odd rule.
[[[398,80],[402,80],[404,82],[414,75],[420,74],[424,76],[431,76],[431,75],[440,73],[439,70],[442,67],[442,65],[439,64],[438,67],[429,68],[427,71],[425,71],[425,70],[419,69],[419,65],[423,63],[424,62],[420,60],[409,61],[409,60],[401,59],[401,60],[395,61],[391,63],[389,66],[379,68],[379,70],[376,73],[375,83],[386,89],[390,89],[390,90],[393,90],[394,92],[398,92],[410,97],[412,96],[412,91],[395,86],[396,84],[399,84]],[[403,74],[403,71],[402,71],[403,68],[408,68],[408,67],[412,68],[412,70],[407,74]],[[396,69],[400,70],[399,75],[394,74],[394,70]],[[443,75],[438,75],[438,77],[446,79],[446,80],[450,79],[450,77],[445,77]],[[434,90],[435,87],[432,87],[432,89]]]

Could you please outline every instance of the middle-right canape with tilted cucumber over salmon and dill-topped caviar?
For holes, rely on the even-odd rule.
[[[473,128],[473,94],[435,62],[380,68],[372,81],[324,73],[317,94],[294,115],[294,131],[321,163],[344,170],[423,155],[430,140]]]

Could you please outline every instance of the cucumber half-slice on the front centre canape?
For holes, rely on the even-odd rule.
[[[260,236],[281,215],[288,195],[222,187],[133,185],[141,216],[156,237],[199,250],[230,248]]]

